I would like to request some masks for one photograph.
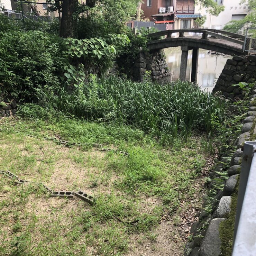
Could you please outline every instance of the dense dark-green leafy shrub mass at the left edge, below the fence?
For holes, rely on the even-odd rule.
[[[37,98],[38,90],[55,88],[65,63],[61,39],[40,31],[0,33],[0,91],[15,98]]]

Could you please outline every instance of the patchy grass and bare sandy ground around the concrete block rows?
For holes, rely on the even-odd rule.
[[[189,235],[183,213],[195,216],[202,197],[196,185],[206,158],[202,136],[163,147],[129,126],[64,117],[5,118],[0,128],[1,170],[97,199],[90,206],[53,198],[33,183],[14,185],[0,175],[1,255],[182,254]],[[44,136],[88,146],[58,145]],[[101,152],[92,143],[129,156]]]

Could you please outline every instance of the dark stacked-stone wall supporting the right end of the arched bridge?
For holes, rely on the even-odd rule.
[[[256,55],[234,56],[228,59],[217,83],[212,90],[220,91],[226,98],[243,98],[241,89],[232,86],[239,82],[252,83],[256,80]]]

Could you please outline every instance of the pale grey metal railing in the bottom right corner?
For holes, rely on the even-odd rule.
[[[256,141],[244,144],[232,256],[256,252]]]

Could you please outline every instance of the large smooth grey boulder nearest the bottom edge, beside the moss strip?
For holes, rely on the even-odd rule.
[[[224,218],[217,218],[217,219],[213,219],[210,222],[209,228],[201,243],[199,256],[219,256],[219,254],[221,253],[219,225],[224,220],[225,220]]]

